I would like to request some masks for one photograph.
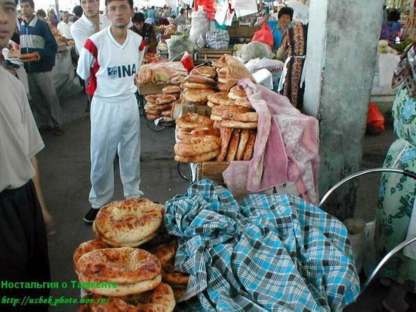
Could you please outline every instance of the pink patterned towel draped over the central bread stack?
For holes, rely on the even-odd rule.
[[[270,192],[295,184],[297,196],[318,203],[318,120],[301,114],[288,98],[243,79],[254,110],[259,114],[254,155],[250,162],[231,162],[223,172],[227,188],[236,196]]]

